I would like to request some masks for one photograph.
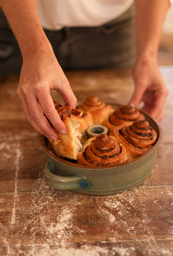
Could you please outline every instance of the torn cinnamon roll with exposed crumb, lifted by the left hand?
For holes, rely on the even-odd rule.
[[[62,135],[55,130],[58,133],[59,138],[56,141],[48,139],[49,146],[55,155],[76,160],[78,152],[83,148],[80,141],[82,135],[78,132],[79,124],[84,123],[84,120],[81,117],[83,112],[80,109],[72,109],[69,106],[60,106],[61,104],[59,105],[57,103],[58,102],[56,102],[55,108],[57,107],[56,110],[67,127],[67,133]]]

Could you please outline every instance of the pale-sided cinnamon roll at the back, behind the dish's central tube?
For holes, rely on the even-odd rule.
[[[98,100],[96,96],[88,97],[85,102],[78,107],[83,113],[90,112],[93,117],[94,124],[102,124],[103,120],[109,115],[112,107],[106,105],[105,102]]]

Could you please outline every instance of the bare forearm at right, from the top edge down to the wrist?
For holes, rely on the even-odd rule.
[[[168,0],[136,0],[136,54],[157,56]]]

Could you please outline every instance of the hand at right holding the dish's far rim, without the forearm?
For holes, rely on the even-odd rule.
[[[129,104],[137,108],[139,103],[144,101],[143,110],[160,121],[164,115],[168,89],[160,74],[157,60],[153,57],[137,58],[133,65],[132,76],[135,89]]]

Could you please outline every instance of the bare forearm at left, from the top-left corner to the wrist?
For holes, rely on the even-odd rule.
[[[40,23],[36,0],[0,0],[0,3],[23,57],[35,51],[51,49]]]

